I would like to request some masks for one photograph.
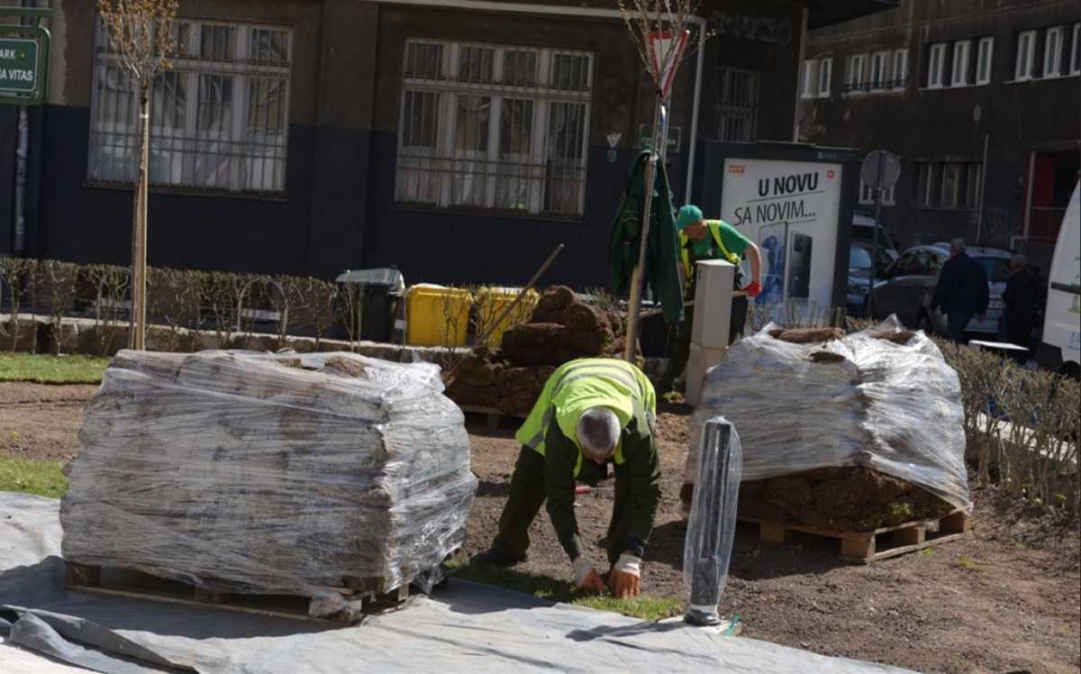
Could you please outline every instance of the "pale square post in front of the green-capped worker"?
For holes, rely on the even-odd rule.
[[[691,326],[691,356],[686,364],[685,399],[694,407],[702,402],[706,371],[721,361],[729,347],[732,317],[732,283],[735,265],[722,260],[704,260],[695,269],[694,323]]]

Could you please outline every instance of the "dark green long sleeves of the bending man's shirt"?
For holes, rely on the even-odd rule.
[[[660,461],[645,413],[637,402],[633,417],[620,434],[620,445],[624,462],[615,464],[616,499],[609,537],[610,556],[612,550],[617,550],[641,557],[660,503]],[[545,447],[548,515],[560,544],[573,560],[583,550],[574,516],[574,468],[579,450],[555,423],[548,428]],[[578,480],[596,485],[599,477],[600,466],[583,458]]]

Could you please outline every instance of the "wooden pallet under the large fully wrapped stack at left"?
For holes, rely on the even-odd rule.
[[[64,563],[64,586],[68,590],[107,596],[216,608],[275,618],[344,623],[359,622],[365,614],[401,608],[409,600],[408,585],[379,594],[364,594],[350,587],[332,587],[331,590],[342,594],[349,606],[325,618],[312,618],[308,616],[308,597],[219,592],[129,569],[103,568],[76,561]]]

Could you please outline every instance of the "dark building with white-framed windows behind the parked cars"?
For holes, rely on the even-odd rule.
[[[1046,265],[1081,168],[1081,4],[904,0],[812,30],[797,116],[801,141],[902,158],[882,200],[900,246],[963,236]]]

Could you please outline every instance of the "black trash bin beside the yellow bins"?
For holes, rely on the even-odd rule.
[[[393,267],[355,272],[346,269],[334,280],[341,290],[338,301],[357,302],[357,306],[361,309],[356,314],[356,320],[359,325],[351,331],[353,339],[368,342],[390,342],[395,314],[404,288],[402,273]],[[337,312],[338,320],[334,331],[338,339],[349,339],[350,330],[346,325],[346,317],[350,314],[348,310]]]

